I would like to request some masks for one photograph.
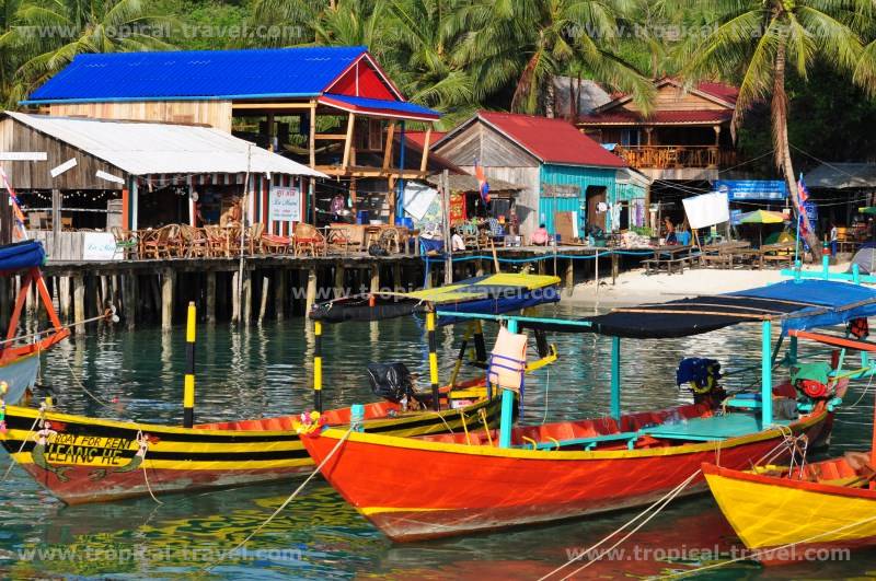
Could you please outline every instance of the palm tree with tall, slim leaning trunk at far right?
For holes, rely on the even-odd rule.
[[[872,0],[687,0],[715,15],[716,25],[701,39],[685,46],[684,77],[725,79],[739,82],[734,127],[754,103],[770,101],[774,158],[784,173],[794,208],[800,213],[797,181],[787,138],[785,79],[793,72],[806,79],[816,59],[854,74],[862,43],[852,25],[864,22],[873,10]],[[855,75],[868,82],[865,70]],[[729,79],[733,80],[733,79]],[[818,236],[806,220],[806,242],[818,246]]]

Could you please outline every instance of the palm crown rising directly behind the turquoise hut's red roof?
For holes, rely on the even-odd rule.
[[[652,84],[621,59],[620,21],[629,0],[473,0],[456,16],[457,59],[471,67],[476,96],[508,85],[511,108],[553,114],[554,78],[575,63],[648,108]]]

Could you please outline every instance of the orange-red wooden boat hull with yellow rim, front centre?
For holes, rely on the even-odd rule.
[[[827,418],[827,412],[814,414],[791,429],[817,439],[823,435]],[[339,446],[323,476],[374,526],[402,542],[646,504],[699,470],[704,461],[747,467],[784,438],[777,429],[761,431],[725,440],[719,452],[716,442],[553,451],[357,432],[338,443],[344,434],[327,429],[302,441],[318,463]],[[700,475],[683,493],[704,488]]]

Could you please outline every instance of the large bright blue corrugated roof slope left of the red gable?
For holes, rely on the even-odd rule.
[[[364,46],[79,55],[31,95],[45,101],[308,96]]]

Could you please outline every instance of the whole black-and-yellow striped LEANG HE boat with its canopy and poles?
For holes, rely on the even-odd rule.
[[[504,312],[520,309],[521,304],[530,306],[557,301],[558,283],[556,277],[500,275],[498,278],[460,282],[454,286],[456,293],[448,292],[447,288],[436,289],[436,293],[440,293],[438,299],[417,292],[406,302],[425,305],[435,300],[449,309],[465,310],[471,306],[468,304],[471,301],[480,301],[486,312]],[[522,300],[512,300],[515,297]],[[405,302],[404,297],[395,300]],[[403,314],[405,312],[393,310],[372,319]],[[366,315],[359,318],[366,318]],[[314,323],[318,328],[319,325],[319,322]],[[194,341],[192,316],[189,333]],[[429,336],[430,351],[434,352],[434,329]],[[316,345],[321,345],[319,335]],[[194,352],[194,347],[192,349]],[[322,381],[319,349],[314,356],[314,387],[320,387],[314,390],[318,407]],[[429,359],[435,375],[437,360],[431,353]],[[502,403],[498,398],[471,397],[472,387],[479,384],[484,384],[483,376],[417,394],[425,409],[408,408],[405,402],[369,404],[362,406],[359,417],[367,431],[395,435],[458,431],[466,422],[489,428],[497,425]],[[461,407],[452,405],[457,392],[451,388],[457,386],[464,388],[463,399],[457,404]],[[328,410],[320,416],[319,421],[345,426],[349,423],[351,412],[350,408]],[[8,406],[8,430],[0,433],[0,443],[53,495],[68,504],[79,504],[239,486],[309,473],[313,463],[301,444],[296,426],[300,421],[307,423],[310,418],[311,415],[306,414],[173,427],[74,416],[44,407]]]

